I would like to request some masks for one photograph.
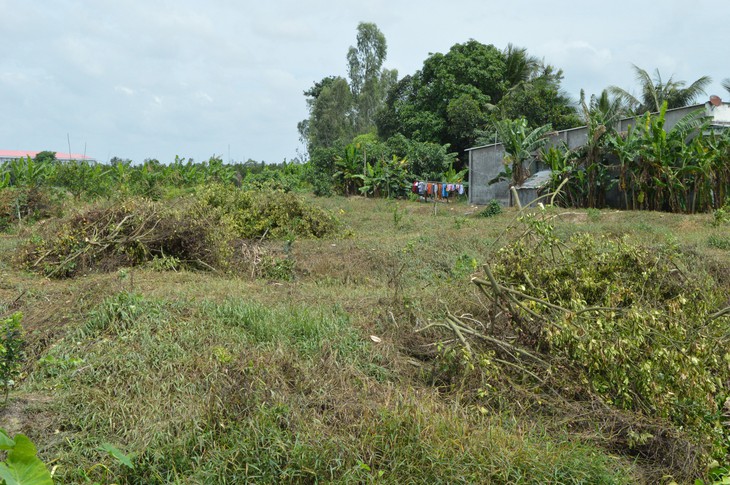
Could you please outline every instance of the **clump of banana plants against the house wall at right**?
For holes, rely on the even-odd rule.
[[[558,200],[600,208],[617,187],[631,210],[709,212],[721,208],[730,187],[730,134],[707,131],[703,111],[690,113],[665,130],[667,103],[659,113],[637,118],[616,133],[623,112],[604,93],[590,106],[582,98],[587,143],[579,149],[550,148],[541,157],[553,170],[553,188],[567,180]]]

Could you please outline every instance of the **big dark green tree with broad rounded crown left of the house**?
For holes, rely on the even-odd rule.
[[[499,50],[475,40],[455,44],[446,54],[431,54],[391,89],[377,116],[378,134],[400,133],[463,153],[485,133],[481,128],[500,119],[524,117],[531,128],[577,126],[561,81],[560,70],[524,48],[510,44]]]

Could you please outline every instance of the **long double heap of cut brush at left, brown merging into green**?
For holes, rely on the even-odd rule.
[[[333,215],[295,194],[214,185],[167,202],[97,203],[40,225],[20,258],[24,267],[54,278],[151,263],[156,269],[290,279],[292,262],[264,240],[290,244],[338,229]]]

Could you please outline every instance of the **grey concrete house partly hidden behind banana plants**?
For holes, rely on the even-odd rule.
[[[704,109],[707,117],[711,119],[711,129],[724,130],[730,128],[730,103],[723,103],[717,96],[711,96],[710,101],[705,104],[667,110],[664,129],[670,130],[678,120],[698,109]],[[636,123],[636,119],[636,117],[632,117],[620,120],[616,124],[616,130],[628,130],[629,125]],[[565,144],[572,150],[584,145],[587,137],[588,128],[585,126],[562,130],[549,137],[548,146]],[[494,180],[504,170],[504,146],[501,143],[493,143],[469,148],[467,152],[469,153],[469,203],[487,204],[494,199],[502,205],[511,205],[508,182],[489,184],[490,180]],[[534,195],[537,194],[540,188],[539,185],[546,181],[545,170],[549,168],[540,166],[536,160],[530,161],[529,165],[530,173],[535,175],[525,181],[525,190],[519,191],[521,192],[520,202],[523,205],[530,200],[534,200]]]

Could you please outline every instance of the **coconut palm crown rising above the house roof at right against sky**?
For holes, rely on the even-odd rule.
[[[709,76],[702,76],[685,87],[686,82],[675,81],[672,77],[666,82],[662,81],[658,69],[654,70],[654,77],[652,78],[644,69],[636,65],[633,68],[641,90],[639,97],[618,86],[609,86],[608,91],[621,98],[636,114],[658,112],[665,101],[669,109],[688,106],[698,96],[705,94],[705,88],[712,82]]]

